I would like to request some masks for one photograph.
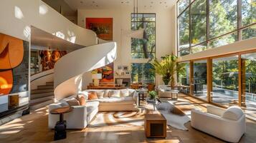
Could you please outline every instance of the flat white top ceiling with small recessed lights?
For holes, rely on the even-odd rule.
[[[133,7],[133,0],[65,0],[72,9],[120,9]],[[138,9],[168,9],[176,0],[138,0]]]

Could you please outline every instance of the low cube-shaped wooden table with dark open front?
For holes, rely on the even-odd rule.
[[[146,137],[166,137],[166,118],[162,114],[145,114]]]

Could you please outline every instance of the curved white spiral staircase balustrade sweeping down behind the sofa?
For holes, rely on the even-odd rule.
[[[63,99],[82,87],[82,74],[110,64],[116,58],[116,44],[88,46],[63,56],[54,65],[54,97]]]

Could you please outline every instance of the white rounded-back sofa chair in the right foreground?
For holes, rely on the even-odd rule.
[[[240,107],[207,106],[207,112],[191,110],[191,126],[227,142],[239,142],[245,134],[245,113]]]

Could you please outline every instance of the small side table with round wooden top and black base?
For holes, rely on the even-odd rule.
[[[60,114],[60,121],[58,121],[55,124],[54,127],[54,140],[58,139],[66,139],[67,137],[67,132],[66,132],[66,127],[67,123],[64,120],[63,115],[68,112],[72,112],[73,107],[60,107],[56,109],[52,109],[50,111],[50,114]]]

